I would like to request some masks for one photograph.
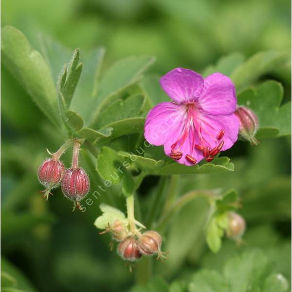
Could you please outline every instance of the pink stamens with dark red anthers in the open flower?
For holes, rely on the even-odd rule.
[[[188,162],[196,164],[197,160],[194,158],[193,152],[197,149],[202,152],[207,162],[211,162],[224,145],[222,138],[225,134],[225,130],[220,129],[216,136],[210,133],[207,128],[211,128],[213,132],[216,132],[216,129],[202,118],[201,109],[196,103],[187,104],[185,106],[184,119],[183,130],[177,141],[171,146],[170,157],[175,160],[180,160],[183,155],[185,155]],[[204,138],[206,135],[209,139],[213,140],[217,146],[212,148],[210,143]],[[181,148],[188,138],[191,139],[191,152],[183,153],[181,152]],[[199,144],[195,144],[195,141],[198,140]]]

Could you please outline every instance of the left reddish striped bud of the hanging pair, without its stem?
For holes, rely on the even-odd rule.
[[[57,159],[47,159],[38,168],[39,182],[47,189],[57,187],[64,176],[65,166]]]

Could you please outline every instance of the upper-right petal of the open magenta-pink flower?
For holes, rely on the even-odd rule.
[[[232,80],[214,73],[204,79],[204,89],[198,98],[201,110],[208,114],[221,115],[236,110],[237,98]]]

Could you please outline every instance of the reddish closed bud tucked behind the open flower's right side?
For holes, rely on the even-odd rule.
[[[239,119],[239,137],[250,141],[252,145],[257,145],[255,138],[258,129],[258,118],[256,113],[247,107],[237,107],[235,114]]]

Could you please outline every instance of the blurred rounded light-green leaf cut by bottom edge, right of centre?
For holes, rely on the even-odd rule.
[[[193,276],[191,282],[188,285],[188,291],[231,292],[229,290],[228,282],[218,272],[208,270],[202,270]]]

